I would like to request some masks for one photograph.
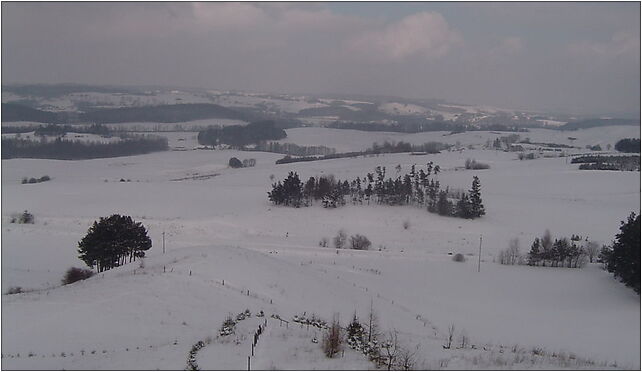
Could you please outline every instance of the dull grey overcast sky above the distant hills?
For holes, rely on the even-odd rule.
[[[640,111],[639,3],[2,3],[3,83]]]

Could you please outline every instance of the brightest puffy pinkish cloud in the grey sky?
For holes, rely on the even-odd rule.
[[[462,43],[444,17],[435,12],[412,14],[383,30],[370,30],[350,38],[346,46],[369,57],[400,61],[420,55],[427,59],[443,57]]]

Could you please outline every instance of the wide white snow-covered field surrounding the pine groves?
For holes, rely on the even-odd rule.
[[[637,137],[639,128],[520,135],[556,143],[573,136],[573,145],[584,146]],[[497,136],[297,128],[284,142],[354,151],[386,139],[483,145]],[[257,164],[231,169],[232,156],[256,158]],[[580,171],[564,158],[519,161],[514,153],[488,150],[275,165],[281,157],[200,150],[2,160],[2,291],[34,289],[2,295],[2,368],[184,369],[192,345],[204,340],[197,356],[202,369],[246,369],[252,334],[265,320],[253,315],[234,336],[217,332],[226,316],[246,308],[263,310],[268,320],[251,359],[255,369],[374,368],[349,349],[328,360],[311,342],[322,331],[269,317],[291,320],[307,312],[329,321],[338,313],[345,324],[356,311],[365,321],[371,301],[382,333],[397,330],[400,342],[416,351],[417,368],[640,368],[640,298],[598,265],[577,270],[494,263],[510,239],[518,238],[525,253],[545,229],[554,237],[579,234],[610,243],[619,221],[640,212],[639,173]],[[467,158],[491,168],[463,170]],[[375,205],[293,209],[267,200],[271,176],[282,179],[291,170],[302,179],[346,179],[383,165],[394,177],[398,164],[405,173],[428,161],[441,166],[442,185],[467,189],[478,175],[487,215],[470,221]],[[43,174],[52,180],[20,184]],[[8,222],[25,209],[35,215],[34,225]],[[83,266],[76,250],[87,228],[113,213],[148,228],[154,245],[144,267],[136,262],[59,286],[67,268]],[[341,228],[366,235],[373,249],[318,245]],[[467,261],[453,262],[449,252],[463,253]],[[465,331],[476,348],[443,349],[451,324],[456,337]]]

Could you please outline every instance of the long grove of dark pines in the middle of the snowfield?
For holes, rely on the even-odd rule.
[[[397,173],[400,171],[401,166],[397,166]],[[473,177],[468,193],[453,193],[448,187],[441,189],[439,181],[430,177],[439,171],[439,165],[429,162],[425,171],[417,171],[413,165],[410,173],[393,179],[386,178],[386,167],[378,166],[374,173],[352,181],[321,176],[310,177],[305,183],[296,172],[290,172],[283,182],[272,185],[268,199],[275,205],[295,208],[310,206],[318,201],[325,208],[336,208],[345,205],[348,199],[355,205],[371,202],[414,205],[427,208],[432,213],[461,218],[477,218],[486,213],[481,199],[481,183],[477,176]]]

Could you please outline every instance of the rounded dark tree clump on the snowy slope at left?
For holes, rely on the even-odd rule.
[[[124,265],[137,257],[144,257],[152,247],[147,230],[130,216],[114,214],[101,217],[78,242],[78,253],[82,261],[98,272]]]

